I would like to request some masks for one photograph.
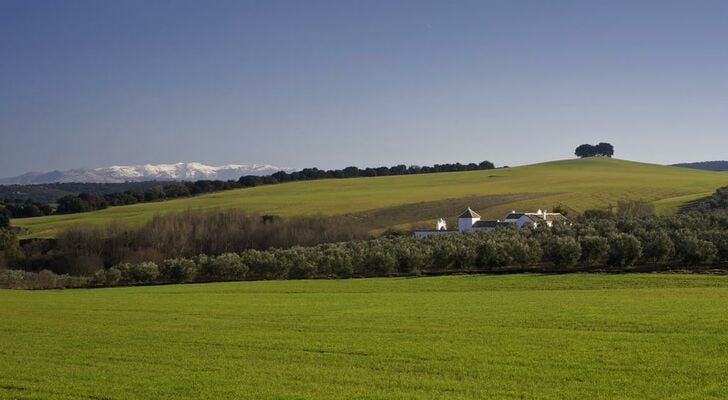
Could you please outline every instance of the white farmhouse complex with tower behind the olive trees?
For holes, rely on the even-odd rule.
[[[536,228],[545,225],[551,227],[554,222],[566,221],[566,217],[560,213],[550,213],[546,210],[538,210],[536,212],[516,212],[514,210],[502,220],[481,220],[480,215],[468,207],[465,212],[458,216],[458,230],[447,230],[445,220],[440,218],[435,225],[435,230],[418,230],[415,231],[415,236],[425,237],[432,234],[477,232],[492,230],[503,226],[515,226],[517,229],[521,229],[524,226]]]

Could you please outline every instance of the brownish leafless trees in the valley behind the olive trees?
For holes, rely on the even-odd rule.
[[[18,243],[15,256],[7,261],[10,267],[27,271],[86,275],[125,262],[369,238],[366,226],[342,216],[283,219],[235,209],[188,210],[157,215],[140,226],[71,226],[55,239]]]

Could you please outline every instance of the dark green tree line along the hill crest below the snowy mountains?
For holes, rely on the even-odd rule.
[[[56,200],[54,206],[33,201],[31,199],[7,198],[0,202],[0,211],[9,214],[10,218],[39,217],[51,214],[75,214],[107,207],[131,205],[144,202],[192,197],[205,193],[220,192],[231,189],[272,185],[277,183],[308,181],[316,179],[344,179],[357,177],[413,175],[433,172],[458,172],[493,169],[495,165],[490,161],[479,164],[435,164],[434,166],[406,166],[321,170],[318,168],[304,168],[296,172],[279,171],[272,175],[257,176],[246,175],[238,181],[198,180],[192,182],[172,182],[154,185],[146,190],[125,190],[113,193],[71,193]]]

